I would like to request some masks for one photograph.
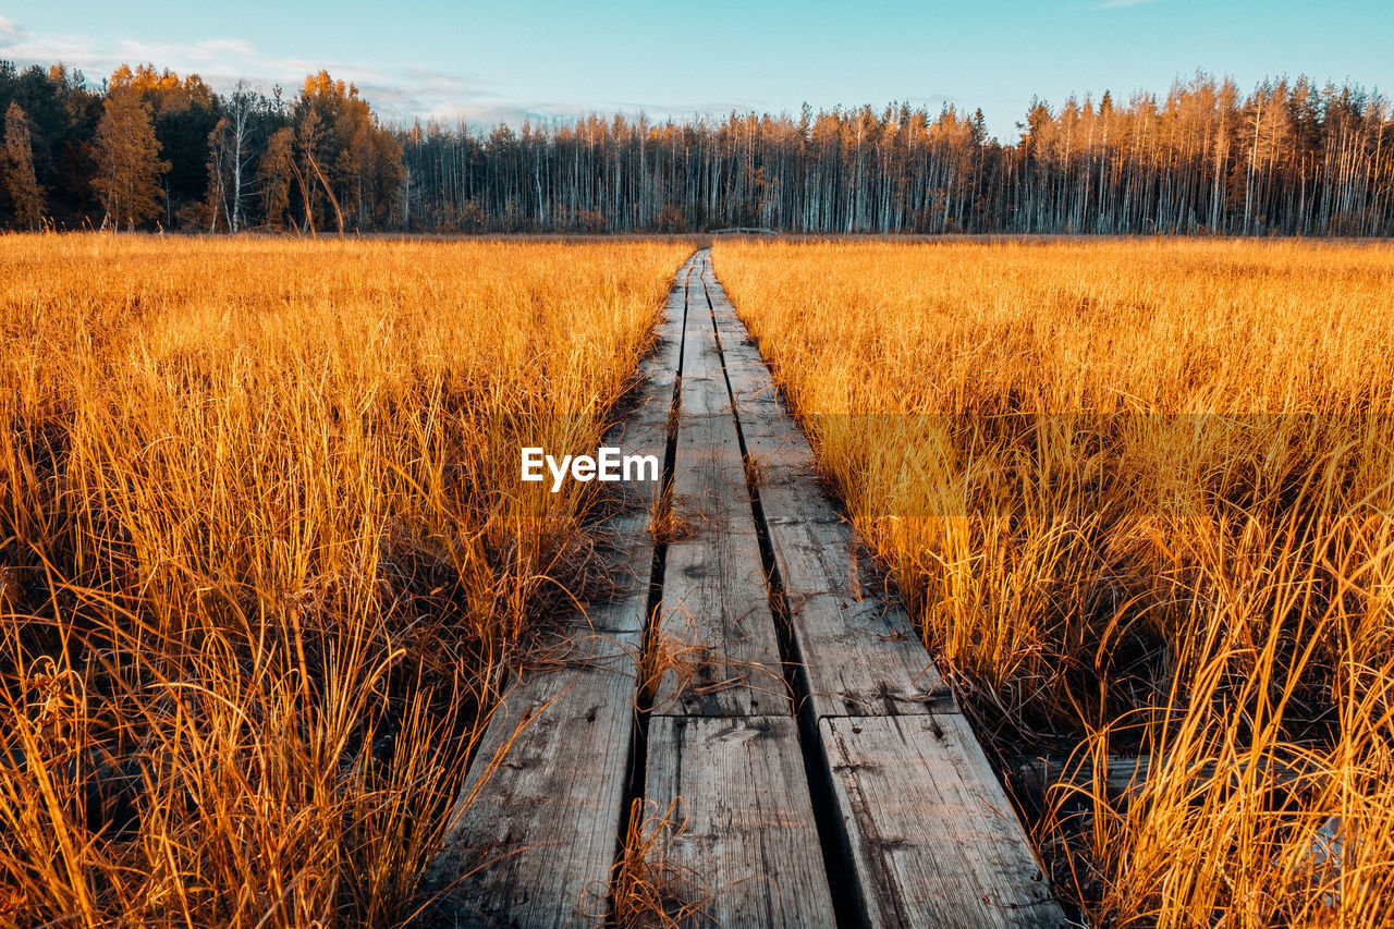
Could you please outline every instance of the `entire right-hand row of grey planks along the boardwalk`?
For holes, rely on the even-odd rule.
[[[981,746],[817,484],[769,370],[707,282],[775,572],[804,664],[866,921],[874,926],[1064,925]]]

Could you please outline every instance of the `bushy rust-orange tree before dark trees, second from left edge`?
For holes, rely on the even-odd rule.
[[[170,163],[160,160],[160,144],[151,123],[151,106],[132,86],[107,93],[106,113],[96,128],[98,174],[92,188],[110,220],[127,229],[160,215],[160,177]]]

